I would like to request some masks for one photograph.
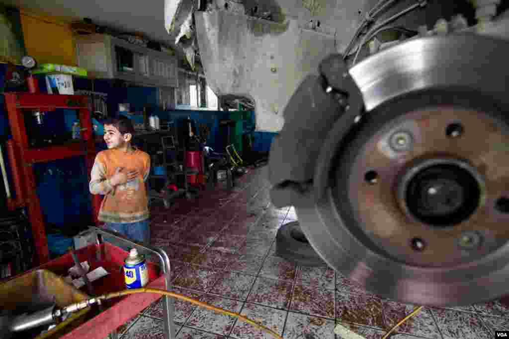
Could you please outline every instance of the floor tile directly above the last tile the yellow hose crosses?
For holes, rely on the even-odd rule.
[[[248,302],[260,303],[277,309],[288,309],[292,298],[291,282],[258,277],[247,297]]]

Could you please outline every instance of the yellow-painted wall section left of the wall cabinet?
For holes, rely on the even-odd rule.
[[[20,9],[26,53],[39,64],[76,65],[70,22]]]

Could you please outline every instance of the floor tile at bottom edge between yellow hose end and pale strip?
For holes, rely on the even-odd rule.
[[[334,321],[290,312],[285,326],[284,338],[334,339]]]

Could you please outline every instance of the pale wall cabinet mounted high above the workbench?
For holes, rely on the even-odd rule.
[[[78,66],[93,78],[178,87],[177,57],[103,34],[76,37]]]

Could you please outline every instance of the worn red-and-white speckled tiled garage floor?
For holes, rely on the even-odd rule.
[[[232,192],[203,192],[171,209],[154,208],[152,244],[172,261],[172,290],[258,321],[285,338],[340,339],[341,323],[365,338],[413,310],[365,292],[332,269],[299,267],[274,256],[278,227],[297,220],[293,208],[271,207],[266,168],[250,169]],[[177,338],[269,338],[230,316],[176,301]],[[119,329],[122,339],[162,338],[162,305],[152,304]],[[498,302],[458,309],[425,307],[394,339],[493,338],[509,330]]]

